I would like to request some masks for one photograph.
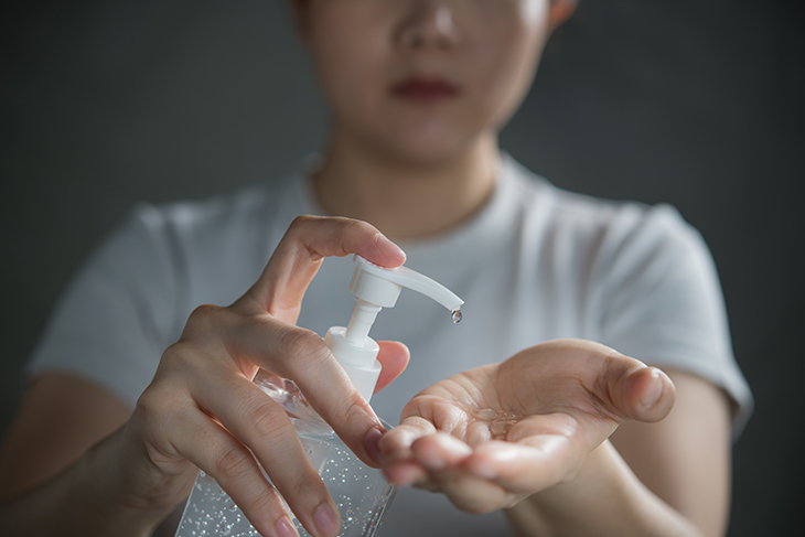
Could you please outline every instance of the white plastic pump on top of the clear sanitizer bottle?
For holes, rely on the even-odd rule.
[[[356,267],[350,291],[356,298],[350,325],[332,326],[324,336],[324,343],[344,367],[355,388],[368,401],[380,375],[380,363],[377,362],[380,347],[368,334],[380,310],[393,308],[404,287],[452,311],[454,322],[461,320],[460,309],[464,301],[441,283],[407,267],[387,269],[357,255],[353,260]]]

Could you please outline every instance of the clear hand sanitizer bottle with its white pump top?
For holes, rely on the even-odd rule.
[[[379,346],[368,333],[380,310],[394,307],[404,287],[442,304],[451,311],[453,322],[461,321],[460,308],[464,302],[443,286],[406,267],[385,269],[358,256],[354,257],[354,261],[356,267],[350,290],[356,299],[352,319],[346,327],[332,326],[328,330],[324,342],[355,388],[368,401],[380,374],[377,361]],[[383,472],[365,465],[355,457],[304,400],[293,382],[260,372],[255,383],[291,418],[308,457],[339,506],[342,522],[339,535],[373,537],[394,497],[395,487],[385,480]],[[269,479],[268,475],[266,479]],[[300,536],[309,537],[296,517],[293,524]],[[215,480],[198,472],[176,537],[214,535],[259,537]]]

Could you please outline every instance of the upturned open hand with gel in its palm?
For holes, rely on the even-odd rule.
[[[383,468],[397,485],[487,513],[572,480],[620,423],[658,421],[674,401],[655,367],[597,343],[551,341],[414,397],[380,439]]]

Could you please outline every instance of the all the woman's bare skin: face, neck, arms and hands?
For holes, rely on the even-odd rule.
[[[393,481],[439,491],[471,512],[506,508],[520,535],[722,535],[729,409],[698,377],[666,375],[590,342],[549,342],[428,388],[406,406],[402,427],[383,436],[321,337],[296,326],[323,257],[357,253],[395,267],[405,255],[385,236],[438,235],[484,205],[495,186],[497,131],[572,7],[291,2],[333,116],[316,195],[348,218],[297,219],[238,301],[193,312],[136,408],[79,378],[34,380],[0,452],[3,527],[148,535],[201,468],[262,535],[293,535],[249,447],[308,531],[335,535],[332,500],[287,416],[250,382],[262,368],[293,379],[347,445]],[[448,78],[460,92],[440,103],[401,101],[390,88],[411,75]],[[408,352],[383,342],[378,358],[379,389]],[[650,393],[656,400],[643,405]],[[473,414],[480,408],[516,412],[516,423],[505,438],[486,439],[497,426]]]

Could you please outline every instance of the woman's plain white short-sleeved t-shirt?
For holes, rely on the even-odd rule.
[[[314,200],[300,173],[202,202],[138,206],[66,290],[29,373],[68,372],[133,406],[190,312],[245,292],[297,215],[324,214]],[[465,304],[454,325],[450,312],[404,291],[378,315],[372,337],[411,351],[408,369],[372,400],[391,423],[426,386],[558,337],[597,341],[705,377],[731,396],[734,431],[749,416],[752,398],[732,355],[712,259],[670,206],[565,192],[506,158],[493,197],[470,222],[400,246],[408,267]],[[300,325],[323,335],[348,322],[353,269],[350,258],[325,260]],[[507,531],[501,513],[466,515],[441,495],[408,488],[382,534]]]

